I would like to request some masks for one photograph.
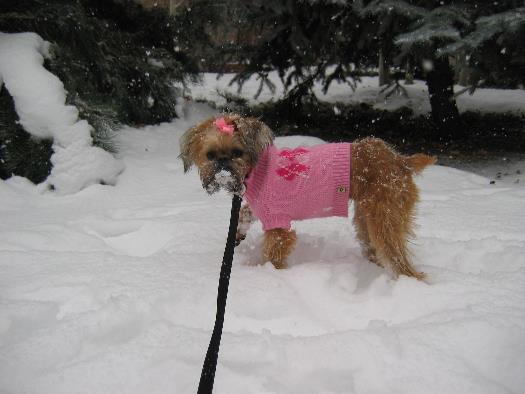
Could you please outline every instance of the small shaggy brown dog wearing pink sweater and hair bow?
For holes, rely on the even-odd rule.
[[[180,139],[184,172],[198,167],[202,186],[243,195],[237,243],[256,218],[264,229],[263,257],[287,267],[297,235],[290,222],[348,216],[364,256],[399,275],[425,278],[411,262],[418,190],[413,176],[436,162],[424,154],[403,156],[384,141],[367,137],[353,143],[280,150],[270,128],[237,114],[210,118]]]

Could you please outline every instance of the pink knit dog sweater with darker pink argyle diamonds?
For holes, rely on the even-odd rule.
[[[340,143],[264,151],[245,180],[245,198],[263,229],[348,216],[350,149],[351,144]]]

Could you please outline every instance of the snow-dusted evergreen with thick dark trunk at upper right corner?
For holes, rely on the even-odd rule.
[[[466,131],[455,102],[451,56],[456,59],[456,71],[464,69],[466,63],[473,86],[480,78],[509,86],[506,81],[517,81],[524,75],[524,52],[518,44],[524,38],[523,7],[509,10],[516,3],[521,2],[374,0],[361,12],[374,15],[381,28],[386,27],[386,34],[378,29],[376,35],[393,37],[397,49],[392,53],[398,64],[414,60],[420,65],[429,90],[432,119],[441,135],[450,137]],[[412,23],[389,26],[384,22],[389,21],[385,10],[397,19],[411,18]],[[400,26],[404,31],[395,29]]]

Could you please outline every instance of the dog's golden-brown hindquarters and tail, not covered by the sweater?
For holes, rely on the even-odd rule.
[[[374,251],[372,257],[390,267],[396,277],[424,278],[412,266],[407,245],[414,235],[413,214],[418,201],[412,176],[433,162],[434,158],[421,154],[401,156],[376,138],[352,145],[350,184],[357,235],[365,254]]]

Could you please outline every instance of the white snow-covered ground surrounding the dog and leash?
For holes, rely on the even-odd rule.
[[[125,129],[114,187],[61,196],[0,182],[0,393],[196,392],[230,199],[208,196],[177,155],[209,115],[192,106]],[[347,219],[297,223],[279,271],[252,228],[235,254],[215,392],[523,392],[523,184],[440,166],[417,183],[413,250],[428,283],[367,262]]]

